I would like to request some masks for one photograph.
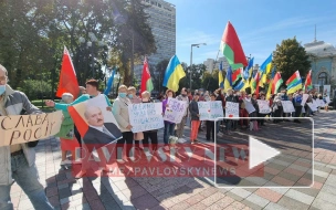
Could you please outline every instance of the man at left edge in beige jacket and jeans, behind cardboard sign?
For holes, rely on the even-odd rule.
[[[8,72],[0,64],[0,114],[2,116],[27,114],[42,114],[22,92],[12,90],[8,84]],[[8,136],[2,136],[2,140]],[[0,147],[0,209],[13,209],[11,202],[11,186],[15,181],[28,196],[34,209],[54,209],[39,182],[35,166],[35,150],[28,144]]]

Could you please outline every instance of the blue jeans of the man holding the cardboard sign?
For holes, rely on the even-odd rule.
[[[18,155],[11,157],[12,177],[17,183],[25,192],[34,209],[54,209],[44,192],[43,186],[38,180],[38,170],[35,165],[29,167],[24,155]],[[2,170],[2,169],[1,169]],[[10,202],[10,189],[11,185],[0,185],[0,209],[12,210],[13,204]]]

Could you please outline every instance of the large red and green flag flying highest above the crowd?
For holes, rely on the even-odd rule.
[[[230,21],[227,24],[220,43],[220,52],[227,57],[232,70],[248,65],[244,51]]]

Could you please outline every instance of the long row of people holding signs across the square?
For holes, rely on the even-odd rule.
[[[7,70],[0,65],[0,114],[2,116],[7,115],[20,115],[22,111],[28,114],[41,114],[42,112],[36,108],[24,93],[19,91],[13,91],[8,84],[8,73]],[[81,95],[74,101],[74,96],[70,93],[64,93],[62,95],[62,99],[60,103],[55,103],[53,101],[46,101],[46,106],[54,107],[55,109],[63,112],[63,122],[61,126],[60,133],[56,135],[61,139],[61,149],[62,149],[62,160],[61,165],[67,164],[82,164],[74,159],[74,148],[81,147],[83,144],[85,145],[87,140],[85,140],[85,136],[82,136],[78,133],[77,127],[74,125],[74,122],[70,114],[67,113],[67,107],[88,101],[90,98],[102,95],[98,90],[98,81],[90,80],[86,82],[86,87],[78,87]],[[106,99],[107,111],[111,111],[114,115],[118,130],[122,133],[120,138],[117,140],[117,146],[123,147],[126,144],[126,161],[127,158],[132,158],[129,150],[135,144],[136,148],[143,149],[141,145],[148,145],[150,149],[155,153],[158,149],[158,130],[146,130],[144,133],[133,133],[132,124],[129,120],[128,106],[130,104],[138,103],[155,103],[161,102],[162,105],[162,115],[167,109],[168,99],[170,97],[176,97],[178,101],[185,101],[188,104],[188,108],[183,113],[181,122],[179,124],[175,124],[171,122],[164,122],[164,144],[165,149],[169,150],[169,139],[171,136],[178,137],[180,143],[186,143],[186,136],[183,135],[185,127],[187,125],[187,120],[190,119],[190,143],[198,143],[198,133],[202,132],[202,128],[206,127],[206,138],[208,141],[213,141],[216,135],[219,135],[221,132],[222,136],[231,135],[234,129],[250,129],[250,130],[260,130],[263,126],[265,126],[265,120],[273,120],[273,123],[279,124],[283,120],[290,120],[291,116],[295,116],[294,123],[301,123],[300,117],[303,116],[312,116],[315,113],[307,106],[307,103],[313,99],[319,98],[326,101],[327,95],[321,95],[317,92],[311,91],[307,92],[309,95],[306,104],[302,106],[304,92],[298,90],[294,94],[286,94],[286,91],[283,90],[281,93],[272,95],[270,98],[266,98],[265,93],[261,92],[260,94],[248,94],[244,91],[233,91],[227,90],[225,93],[221,88],[216,90],[213,93],[208,91],[198,91],[190,92],[190,90],[181,88],[180,93],[174,93],[171,90],[167,90],[165,95],[158,99],[153,99],[150,97],[149,92],[143,92],[140,96],[136,94],[136,88],[133,86],[120,85],[118,87],[118,96],[114,99],[112,104],[109,98],[104,95]],[[177,95],[177,96],[176,96]],[[266,101],[270,105],[269,114],[261,114],[259,112],[259,103],[258,99]],[[219,122],[201,122],[198,102],[202,101],[220,101],[222,104],[223,113],[227,109],[227,103],[233,102],[239,104],[239,116],[245,117],[235,119],[223,119]],[[291,101],[293,106],[295,107],[295,112],[293,113],[284,113],[282,107],[282,101]],[[251,103],[254,106],[254,112],[248,112],[245,104]],[[326,103],[328,104],[328,103]],[[325,111],[328,111],[328,105],[326,105]],[[94,112],[88,113],[88,112]],[[99,108],[91,108],[86,111],[85,117],[90,124],[90,120],[95,122],[91,127],[95,129],[102,129],[104,132],[105,127],[108,127],[104,122],[98,125],[102,118],[102,111]],[[317,111],[318,112],[318,111]],[[92,115],[92,116],[91,116]],[[93,116],[94,115],[94,116]],[[101,117],[101,118],[99,118]],[[253,118],[259,117],[259,118]],[[101,127],[99,127],[101,126]],[[217,129],[216,129],[217,128]],[[223,129],[220,129],[223,128]],[[112,134],[108,132],[109,136],[117,136],[117,134]],[[140,144],[141,141],[141,144]],[[72,153],[73,160],[69,160],[66,156],[66,151]],[[99,154],[98,154],[99,155]],[[10,158],[9,158],[10,157]],[[7,168],[8,170],[0,170],[0,209],[13,209],[13,206],[10,201],[10,189],[11,185],[14,181],[24,190],[28,195],[29,199],[32,201],[35,209],[53,209],[53,207],[48,201],[45,196],[43,186],[38,180],[36,167],[34,164],[34,148],[28,146],[28,144],[18,144],[11,146],[0,147],[0,161],[1,168]],[[119,156],[116,153],[116,159],[123,160],[123,156]],[[105,162],[106,164],[106,162]],[[82,164],[84,165],[84,164]],[[107,168],[106,168],[107,169]],[[82,166],[82,171],[77,175],[77,178],[83,177],[85,175],[86,168]]]

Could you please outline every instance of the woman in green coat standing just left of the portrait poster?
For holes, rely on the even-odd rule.
[[[64,104],[71,104],[73,102],[73,95],[71,93],[62,94],[62,102]],[[71,161],[66,158],[66,151],[71,151],[72,159],[75,160],[75,148],[80,147],[77,140],[74,139],[74,123],[67,111],[63,111],[63,122],[61,125],[60,133],[55,135],[61,139],[61,150],[62,150],[62,165],[78,164],[78,161]]]

